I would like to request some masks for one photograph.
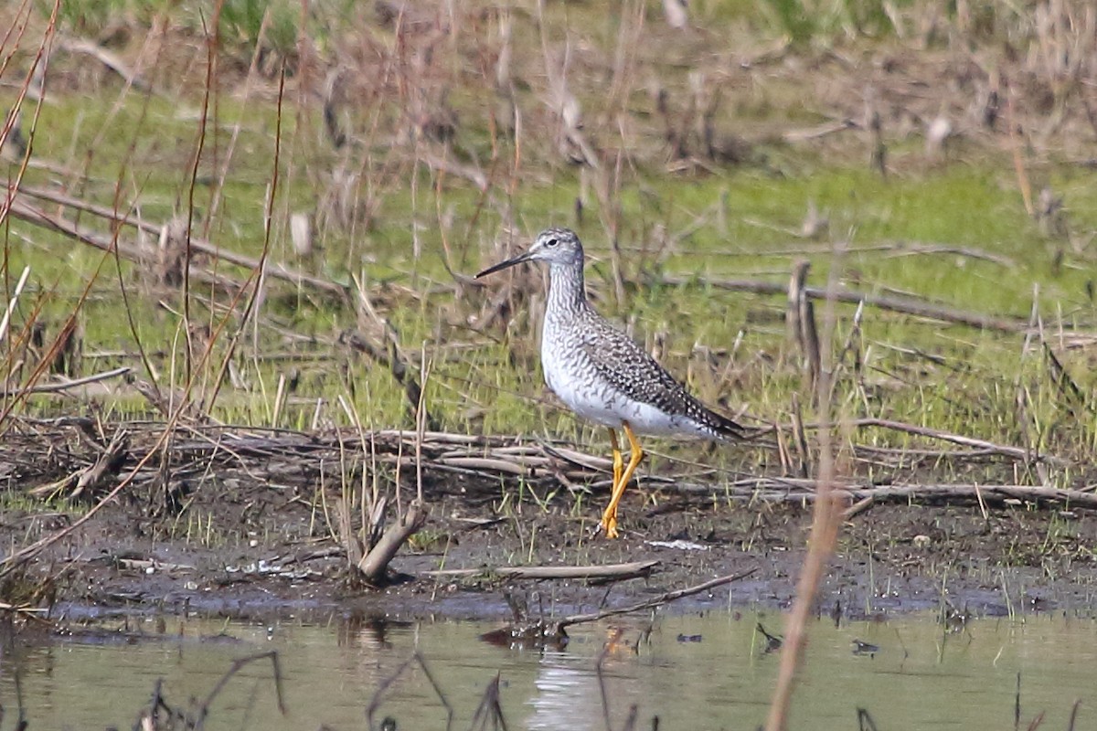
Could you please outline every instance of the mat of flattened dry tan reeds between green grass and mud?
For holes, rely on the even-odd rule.
[[[810,502],[814,499],[816,483],[803,459],[799,466],[790,467],[795,460],[779,446],[761,443],[742,450],[751,453],[755,468],[745,465],[742,471],[715,470],[683,461],[686,471],[660,470],[644,476],[640,482],[645,489],[663,493],[730,500]],[[1084,486],[1084,475],[1075,478],[1074,482],[1079,484],[1073,488],[1047,482],[940,480],[943,462],[951,465],[951,475],[960,473],[958,466],[979,465],[984,476],[987,465],[996,465],[992,471],[1002,475],[1017,475],[1017,466],[1022,465],[1034,478],[1047,476],[1048,464],[1058,465],[1052,457],[1026,455],[1015,447],[975,443],[954,450],[889,452],[858,447],[855,452],[860,453],[862,462],[871,462],[877,469],[871,480],[858,480],[855,476],[836,486],[850,511],[863,510],[878,501],[912,500],[975,501],[984,506],[1051,502],[1097,509],[1097,495]],[[780,458],[767,460],[758,456],[765,453],[776,453]],[[768,467],[767,461],[772,466]],[[923,468],[927,464],[938,469]],[[896,479],[881,479],[889,467]],[[611,468],[609,458],[561,443],[430,431],[304,433],[185,424],[168,429],[162,422],[105,424],[89,418],[59,418],[15,420],[0,441],[0,479],[9,490],[29,496],[84,501],[100,499],[123,483],[134,488],[155,486],[169,494],[171,486],[183,481],[191,490],[213,482],[304,493],[320,486],[362,484],[363,476],[374,480],[372,484],[386,489],[392,486],[415,489],[421,484],[428,500],[444,495],[470,500],[497,498],[501,483],[519,481],[535,488],[564,487],[574,494],[608,487]]]

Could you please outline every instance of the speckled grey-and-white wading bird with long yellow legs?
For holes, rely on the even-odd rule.
[[[644,458],[637,432],[726,439],[743,430],[690,396],[655,358],[595,311],[583,284],[583,244],[574,231],[546,229],[523,253],[476,276],[529,261],[548,263],[548,304],[541,338],[545,382],[572,411],[610,431],[613,489],[601,527],[615,538],[618,503]],[[618,429],[629,439],[627,466],[618,445]]]

